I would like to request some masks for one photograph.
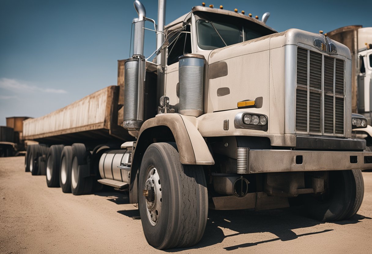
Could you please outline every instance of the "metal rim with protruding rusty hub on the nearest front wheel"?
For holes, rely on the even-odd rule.
[[[146,182],[144,185],[146,215],[151,225],[155,226],[161,214],[161,182],[158,170],[150,166],[146,172]]]

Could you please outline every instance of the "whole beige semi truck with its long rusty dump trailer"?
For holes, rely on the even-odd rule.
[[[188,247],[208,209],[273,209],[298,198],[321,221],[350,218],[372,153],[352,138],[352,57],[321,34],[267,26],[220,6],[195,6],[165,25],[135,0],[132,57],[118,82],[24,121],[26,171],[49,187],[129,192],[147,242]],[[154,59],[144,30],[156,33]],[[248,225],[249,226],[249,225]]]

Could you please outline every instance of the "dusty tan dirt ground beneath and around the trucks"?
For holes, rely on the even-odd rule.
[[[0,158],[0,253],[163,253],[143,235],[121,192],[73,196],[24,172],[24,157]],[[349,221],[321,223],[298,208],[209,211],[204,237],[179,253],[371,253],[372,172]]]

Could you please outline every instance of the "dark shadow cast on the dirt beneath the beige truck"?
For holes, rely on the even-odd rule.
[[[128,194],[124,192],[122,193],[100,192],[94,194],[99,196],[107,196],[109,197],[108,199],[109,201],[115,202],[118,205],[129,203]],[[141,219],[140,212],[138,211],[138,209],[122,210],[118,211],[118,213],[132,219]],[[234,237],[236,235],[241,234],[269,232],[277,236],[276,238],[269,240],[247,242],[244,244],[224,247],[225,250],[230,251],[239,248],[248,248],[267,242],[290,241],[307,235],[323,234],[333,231],[334,229],[332,225],[334,224],[337,225],[356,224],[361,222],[363,219],[371,218],[356,214],[349,220],[328,223],[327,224],[329,225],[328,229],[315,232],[314,229],[309,229],[310,232],[297,235],[294,231],[292,231],[292,229],[310,228],[315,225],[324,224],[324,222],[307,218],[304,215],[302,215],[301,206],[266,211],[253,210],[217,211],[210,209],[208,212],[208,221],[203,238],[198,244],[190,248],[177,248],[165,251],[178,252],[182,250],[190,250],[211,246],[221,243],[222,241],[225,240],[225,238]]]

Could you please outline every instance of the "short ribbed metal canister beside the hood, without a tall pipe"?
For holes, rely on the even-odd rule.
[[[178,113],[198,117],[203,114],[203,83],[205,58],[198,54],[179,57]]]

